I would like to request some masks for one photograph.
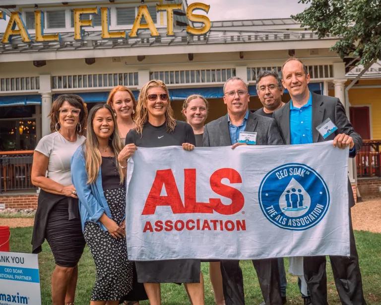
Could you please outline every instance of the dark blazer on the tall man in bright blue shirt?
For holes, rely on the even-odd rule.
[[[282,134],[283,140],[286,144],[291,144],[290,137],[290,102],[284,105],[282,108],[274,112],[273,118],[278,123],[280,132]],[[328,136],[326,139],[320,135],[316,127],[318,124],[326,120],[327,118],[337,126],[337,130]],[[356,156],[356,152],[361,149],[363,140],[360,134],[358,134],[355,129],[353,129],[352,124],[348,121],[347,115],[345,114],[345,109],[343,104],[341,104],[338,98],[324,96],[316,93],[312,93],[312,136],[313,142],[324,142],[333,140],[334,137],[339,133],[345,133],[353,138],[355,143],[355,152],[349,154],[349,157],[353,158]],[[349,206],[355,204],[353,198],[353,192],[350,183],[348,182],[348,193],[349,193]]]

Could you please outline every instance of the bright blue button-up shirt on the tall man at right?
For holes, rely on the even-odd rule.
[[[290,135],[291,144],[307,144],[313,142],[312,137],[312,94],[306,105],[301,108],[290,103]]]

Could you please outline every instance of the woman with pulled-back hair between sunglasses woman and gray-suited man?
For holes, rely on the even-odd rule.
[[[198,94],[192,94],[186,98],[183,104],[182,113],[187,123],[193,128],[196,139],[196,147],[202,146],[202,136],[204,134],[204,125],[208,116],[208,101]],[[201,260],[204,261],[204,260]],[[220,261],[206,260],[209,262],[210,282],[213,286],[214,301],[216,305],[224,305],[224,291],[222,288],[222,275]]]

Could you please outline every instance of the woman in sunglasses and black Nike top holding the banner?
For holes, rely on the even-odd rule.
[[[119,154],[121,166],[127,167],[137,147],[195,145],[191,126],[176,121],[167,86],[161,80],[150,80],[140,90],[135,114],[135,128],[126,136],[126,146]],[[204,304],[203,281],[198,259],[136,261],[137,280],[144,283],[151,305],[161,304],[160,283],[184,283],[193,305]]]

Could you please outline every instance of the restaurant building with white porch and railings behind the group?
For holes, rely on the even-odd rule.
[[[156,6],[167,3],[182,4],[182,9],[174,11],[173,35],[168,35],[167,11],[158,11]],[[152,29],[146,28],[130,37],[143,5],[158,35],[152,36]],[[81,39],[75,39],[74,9],[95,6],[107,7],[108,30],[126,31],[126,37],[102,38],[102,19],[93,13],[80,17],[91,19],[93,27],[81,27]],[[186,0],[2,0],[3,13],[20,13],[31,42],[13,35],[10,43],[0,44],[0,150],[33,150],[41,136],[50,133],[47,115],[59,94],[76,93],[90,108],[105,102],[116,85],[129,87],[137,96],[150,79],[161,79],[168,85],[178,119],[182,119],[182,103],[190,94],[208,99],[208,121],[225,114],[222,86],[235,75],[248,84],[250,108],[255,110],[261,107],[255,90],[257,73],[263,69],[280,71],[290,55],[308,66],[312,91],[346,103],[346,66],[329,50],[337,41],[335,37],[318,39],[293,19],[213,21],[208,32],[195,35],[187,26],[197,29],[205,24],[187,19],[188,7]],[[44,12],[44,35],[59,33],[59,41],[35,41],[35,10]],[[143,18],[140,24],[145,22]],[[352,91],[350,100],[366,103],[366,99],[352,96]],[[283,99],[288,101],[287,92]],[[355,183],[353,167],[350,173]],[[3,193],[6,180],[2,177]]]

